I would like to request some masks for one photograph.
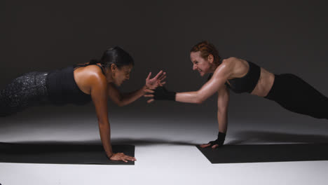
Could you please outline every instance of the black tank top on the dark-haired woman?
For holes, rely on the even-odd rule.
[[[91,96],[83,93],[74,80],[74,69],[86,67],[87,65],[76,64],[71,67],[50,71],[46,79],[50,102],[59,106],[64,104],[83,105],[90,102]],[[100,65],[96,65],[102,69],[104,74],[104,69]]]

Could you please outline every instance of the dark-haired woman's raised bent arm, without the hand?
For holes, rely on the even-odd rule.
[[[144,95],[145,89],[146,89],[146,85],[144,85],[139,90],[135,90],[134,92],[131,93],[121,93],[113,83],[109,83],[107,94],[109,95],[109,98],[114,103],[122,107],[132,102],[135,102],[135,100],[138,100],[139,97],[142,97]]]

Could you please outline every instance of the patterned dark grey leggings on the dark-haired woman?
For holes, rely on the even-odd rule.
[[[8,116],[30,106],[48,102],[48,72],[29,72],[15,78],[0,91],[0,116]]]

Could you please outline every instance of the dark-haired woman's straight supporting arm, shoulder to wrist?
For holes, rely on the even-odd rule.
[[[102,140],[104,151],[110,158],[113,155],[113,151],[111,149],[111,128],[107,113],[107,81],[104,76],[96,74],[92,76],[90,80],[92,81],[90,95],[93,100],[93,104],[95,104],[95,111],[100,130],[100,139]]]

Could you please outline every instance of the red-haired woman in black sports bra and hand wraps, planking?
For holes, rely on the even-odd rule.
[[[210,74],[207,83],[193,92],[169,92],[163,87],[145,90],[153,100],[173,100],[200,104],[217,93],[217,121],[219,134],[216,140],[201,147],[216,148],[224,144],[227,130],[229,89],[234,93],[250,93],[280,104],[285,109],[314,118],[328,119],[328,98],[294,74],[273,74],[247,60],[229,57],[221,60],[217,49],[203,41],[191,48],[193,70],[200,76]]]

